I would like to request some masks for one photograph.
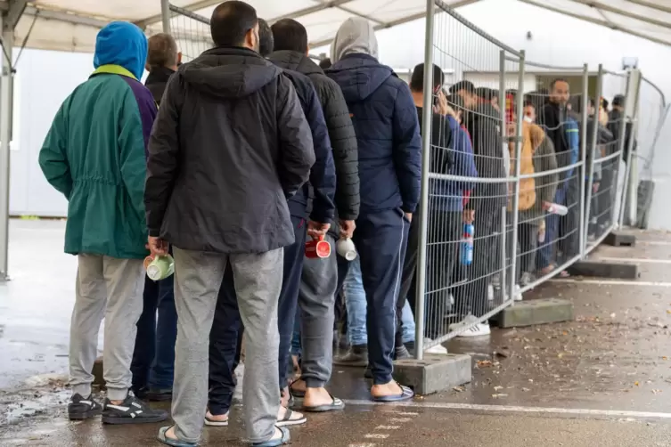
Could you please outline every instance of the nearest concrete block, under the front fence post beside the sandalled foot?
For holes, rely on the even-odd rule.
[[[471,382],[471,356],[424,354],[423,360],[394,362],[394,378],[416,394],[433,394]]]

